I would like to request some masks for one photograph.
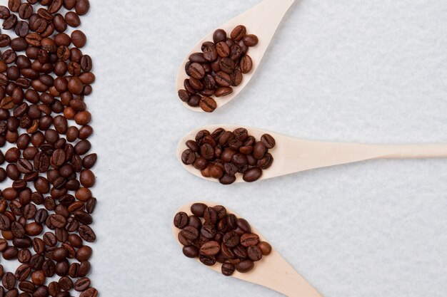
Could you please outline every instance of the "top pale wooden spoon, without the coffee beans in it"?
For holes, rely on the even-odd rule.
[[[233,88],[233,93],[221,98],[215,98],[217,103],[217,108],[220,108],[226,103],[230,102],[233,98],[238,95],[239,92],[247,85],[248,81],[251,80],[253,74],[258,69],[259,64],[261,63],[261,59],[266,52],[268,45],[273,38],[273,34],[278,28],[281,19],[288,11],[288,8],[293,4],[295,0],[264,0],[260,4],[254,6],[252,9],[244,12],[236,16],[234,19],[226,22],[225,24],[219,26],[226,31],[229,36],[229,33],[233,30],[234,27],[238,25],[244,25],[247,28],[247,32],[250,34],[255,34],[259,38],[259,43],[257,46],[251,47],[248,50],[248,56],[251,57],[253,61],[253,68],[250,73],[246,73],[243,75],[243,80],[240,85]],[[217,28],[216,28],[217,29]],[[185,65],[189,61],[189,56],[191,53],[201,52],[201,45],[205,41],[213,41],[213,33],[216,30],[211,31],[208,35],[206,35],[199,43],[191,49],[191,51],[186,55],[185,60],[181,63],[179,68],[179,72],[177,73],[176,80],[176,90],[184,89],[184,80],[189,78],[185,72]],[[179,100],[182,102],[181,100]],[[184,102],[183,102],[184,103]],[[186,108],[190,110],[194,110],[197,112],[203,112],[201,108],[196,107],[193,108],[188,104],[184,103]]]

